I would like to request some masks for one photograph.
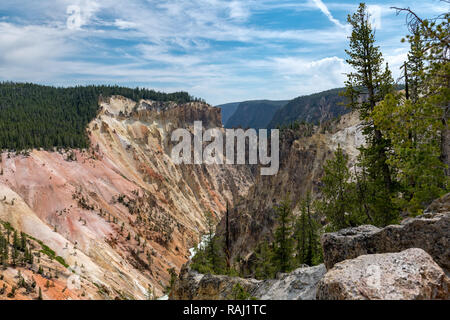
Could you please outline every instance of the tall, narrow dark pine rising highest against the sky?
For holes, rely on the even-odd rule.
[[[366,168],[367,183],[372,193],[367,197],[373,216],[380,225],[395,222],[398,210],[391,201],[395,192],[391,168],[387,163],[390,141],[386,139],[373,122],[373,110],[386,94],[393,91],[393,79],[386,64],[383,69],[383,57],[375,44],[374,31],[369,22],[369,14],[364,3],[356,13],[348,16],[352,26],[350,49],[346,50],[347,63],[354,72],[348,74],[346,92],[349,107],[358,110],[364,122],[363,133],[367,145],[360,148],[361,163]]]

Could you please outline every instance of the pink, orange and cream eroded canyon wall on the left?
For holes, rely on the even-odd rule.
[[[221,127],[220,110],[200,102],[100,101],[89,150],[1,154],[0,220],[62,257],[62,279],[82,279],[61,285],[71,298],[161,296],[167,269],[181,268],[205,230],[204,213],[219,219],[253,181],[245,166],[172,163],[170,132],[194,120]]]

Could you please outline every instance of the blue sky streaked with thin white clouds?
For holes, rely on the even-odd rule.
[[[337,0],[1,0],[0,80],[188,91],[211,104],[291,99],[343,86],[347,14]],[[366,1],[395,76],[404,16],[438,0]]]

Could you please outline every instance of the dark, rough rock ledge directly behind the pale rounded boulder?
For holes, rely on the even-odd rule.
[[[450,212],[425,213],[400,225],[364,225],[326,233],[321,239],[327,269],[361,255],[421,248],[446,272],[450,270]]]

